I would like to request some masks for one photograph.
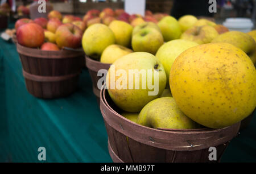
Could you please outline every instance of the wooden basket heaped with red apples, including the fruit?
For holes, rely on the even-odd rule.
[[[58,18],[20,20],[15,25],[16,47],[28,92],[39,98],[75,92],[84,60],[82,30]]]

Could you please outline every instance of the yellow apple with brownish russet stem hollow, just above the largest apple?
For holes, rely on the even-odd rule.
[[[180,39],[191,40],[198,44],[206,44],[212,42],[218,36],[218,32],[211,26],[193,26],[183,32]]]

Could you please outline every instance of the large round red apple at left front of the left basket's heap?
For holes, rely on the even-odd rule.
[[[18,43],[25,47],[37,48],[44,43],[44,29],[36,23],[20,26],[16,36]]]

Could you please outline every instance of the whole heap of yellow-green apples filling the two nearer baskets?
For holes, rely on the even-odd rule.
[[[163,16],[157,23],[137,16],[133,22],[110,21],[105,12],[94,20],[82,38],[86,55],[112,64],[106,76],[108,93],[124,117],[140,125],[164,129],[220,129],[240,122],[256,106],[256,31],[229,31],[192,15],[179,20]],[[141,21],[141,22],[137,22]],[[114,65],[114,66],[113,66]],[[108,77],[121,70],[152,70],[159,73],[159,92],[129,89],[127,78],[117,74],[126,89],[110,88]],[[154,81],[154,79],[151,79]],[[142,85],[141,85],[142,86]]]

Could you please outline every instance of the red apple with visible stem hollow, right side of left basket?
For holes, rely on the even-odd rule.
[[[56,31],[56,43],[60,48],[79,48],[82,34],[82,30],[72,23],[63,24]]]

